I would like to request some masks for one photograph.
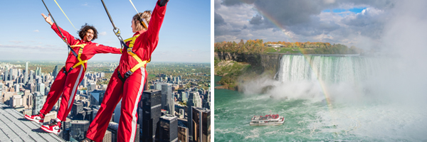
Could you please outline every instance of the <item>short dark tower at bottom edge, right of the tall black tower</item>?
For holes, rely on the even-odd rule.
[[[170,114],[160,117],[160,142],[178,141],[178,117]]]

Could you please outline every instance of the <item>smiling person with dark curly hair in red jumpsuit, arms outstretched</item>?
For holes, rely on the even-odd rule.
[[[43,105],[43,108],[39,111],[39,114],[34,114],[31,116],[25,115],[24,117],[28,120],[36,121],[39,124],[43,123],[44,116],[48,114],[49,111],[51,111],[53,105],[58,102],[58,99],[62,94],[56,121],[53,121],[52,124],[41,126],[41,129],[44,131],[58,134],[60,131],[60,121],[65,121],[67,115],[70,113],[71,107],[73,107],[72,104],[74,102],[78,84],[80,84],[80,82],[83,80],[83,77],[85,76],[87,60],[98,53],[120,54],[120,48],[112,48],[109,46],[92,43],[92,40],[97,38],[97,31],[93,26],[88,26],[88,24],[85,24],[82,26],[82,28],[80,28],[80,40],[74,38],[73,35],[70,35],[70,33],[64,31],[62,28],[60,28],[60,31],[58,31],[55,23],[51,21],[51,16],[46,16],[43,13],[41,15],[43,18],[45,18],[46,22],[51,25],[53,31],[55,31],[61,38],[62,35],[60,35],[60,31],[63,33],[64,37],[66,38],[66,40],[65,38],[63,38],[63,40],[65,40],[70,45],[70,47],[73,48],[78,56],[76,57],[72,52],[68,54],[65,67],[63,67],[56,76],[56,79],[52,84],[51,91],[48,93],[46,102]]]

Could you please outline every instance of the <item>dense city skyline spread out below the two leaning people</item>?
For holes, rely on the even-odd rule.
[[[39,65],[41,67],[38,67]],[[111,67],[111,65],[112,64],[109,63],[100,63],[93,64],[92,67]],[[206,84],[203,79],[204,77],[209,77],[209,75],[206,75],[206,71],[201,70],[206,67],[209,68],[208,65],[204,64],[165,63],[153,65],[152,70],[158,71],[157,73],[154,73],[154,80],[149,81],[152,82],[152,84],[150,85],[147,82],[147,85],[149,85],[149,90],[151,91],[153,91],[152,89],[158,89],[154,82],[163,84],[162,86],[167,87],[167,89],[162,88],[160,90],[154,90],[158,94],[158,103],[163,102],[162,99],[167,99],[162,103],[166,104],[165,106],[167,108],[165,109],[167,110],[162,109],[162,111],[160,111],[160,106],[162,104],[156,104],[155,106],[158,106],[158,109],[155,109],[152,112],[156,114],[155,117],[157,119],[152,122],[150,121],[150,123],[157,124],[157,122],[160,122],[160,125],[152,127],[149,130],[139,128],[139,126],[137,126],[137,133],[140,135],[137,135],[135,139],[146,138],[147,136],[144,136],[143,131],[146,131],[147,133],[147,131],[156,131],[156,129],[159,129],[162,132],[155,134],[156,140],[176,140],[178,139],[178,136],[181,139],[191,140],[189,133],[186,133],[186,131],[191,130],[191,128],[187,128],[186,126],[189,125],[188,121],[194,120],[189,118],[188,111],[191,110],[192,107],[201,108],[203,106],[206,110],[211,108],[211,92],[210,90],[203,89],[204,85],[210,86],[210,84]],[[190,70],[184,71],[185,68]],[[179,74],[176,74],[171,70],[177,70]],[[52,82],[55,80],[55,76],[53,74],[56,74],[57,72],[58,65],[55,64],[39,63],[32,65],[31,63],[25,62],[25,65],[21,65],[21,63],[16,65],[10,62],[0,62],[0,104],[6,104],[11,107],[11,109],[19,111],[20,114],[38,114],[38,110],[40,110],[42,104],[44,104],[47,98],[47,92],[49,92]],[[26,73],[28,73],[28,75],[26,75]],[[25,80],[28,78],[29,80]],[[63,121],[64,125],[61,127],[62,129],[58,134],[60,138],[63,138],[65,141],[81,141],[85,138],[85,133],[90,122],[93,121],[97,111],[100,109],[99,104],[102,102],[102,98],[107,87],[106,84],[97,84],[97,81],[99,80],[105,80],[105,72],[88,71],[85,73],[85,77],[77,89],[75,102],[73,102],[70,114],[67,116],[67,120]],[[162,94],[166,95],[162,97]],[[189,98],[190,94],[192,94],[192,99],[186,99]],[[60,108],[59,102],[61,102],[60,99],[53,106],[52,111],[46,114],[43,124],[51,124],[51,120],[57,118],[57,111]],[[141,102],[139,103],[139,124],[147,122],[142,120],[144,118],[142,112],[145,112],[142,109],[147,109],[146,107],[143,107],[144,102],[147,101],[142,101],[141,99]],[[120,104],[118,104],[117,107],[120,107]],[[173,110],[169,111],[171,109]],[[112,121],[117,121],[120,114],[120,111],[115,111],[112,116]],[[170,116],[166,116],[167,114],[170,114]],[[112,123],[114,122],[110,122],[110,125]],[[118,124],[115,123],[115,125],[117,127]],[[117,129],[110,129],[110,126],[108,127],[108,131],[105,133],[103,140],[113,141],[117,138]],[[210,125],[207,127],[210,129]],[[203,131],[206,131],[205,127]],[[204,136],[206,137],[206,134],[204,134]],[[210,139],[209,133],[207,136]],[[149,137],[151,138],[152,136]]]

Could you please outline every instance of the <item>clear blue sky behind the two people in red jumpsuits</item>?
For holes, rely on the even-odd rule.
[[[112,32],[112,24],[101,1],[57,0],[60,7],[79,30],[85,23],[95,26],[95,43],[120,48]],[[112,20],[120,28],[122,38],[132,37],[132,16],[137,12],[130,1],[104,1]],[[153,10],[156,0],[133,0],[139,12]],[[42,1],[1,1],[0,60],[58,60],[65,61],[68,49],[65,43],[46,23],[41,13],[48,14]],[[58,23],[73,36],[78,33],[55,1],[45,0]],[[152,62],[210,62],[211,1],[171,0],[167,5],[159,43],[152,53]],[[118,61],[120,55],[98,54],[91,60]]]

